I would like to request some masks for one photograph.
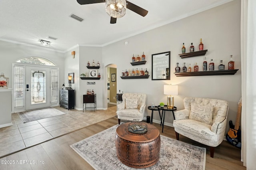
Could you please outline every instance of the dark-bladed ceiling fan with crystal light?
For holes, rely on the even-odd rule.
[[[140,8],[127,0],[77,0],[77,2],[80,5],[106,2],[106,12],[111,17],[110,24],[116,24],[116,19],[125,15],[126,8],[143,17],[148,14],[147,10]]]

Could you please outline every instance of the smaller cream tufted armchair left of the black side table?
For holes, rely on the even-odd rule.
[[[142,121],[146,110],[146,94],[143,93],[124,93],[122,103],[117,105],[118,124],[120,119],[126,121]]]

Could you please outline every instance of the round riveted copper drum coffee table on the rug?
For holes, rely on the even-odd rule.
[[[136,134],[128,131],[124,123],[116,129],[116,154],[118,159],[132,168],[147,168],[156,164],[160,155],[160,133],[153,125],[147,125],[147,132]]]

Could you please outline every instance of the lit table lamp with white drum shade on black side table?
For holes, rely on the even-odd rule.
[[[167,96],[167,108],[174,108],[174,97],[171,95],[178,95],[178,85],[164,85],[164,95]]]

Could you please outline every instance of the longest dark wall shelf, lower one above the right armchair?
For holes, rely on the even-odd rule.
[[[197,72],[180,72],[174,73],[177,77],[183,76],[203,76],[203,75],[234,75],[236,71],[239,69],[234,70],[214,70],[214,71],[197,71]]]

